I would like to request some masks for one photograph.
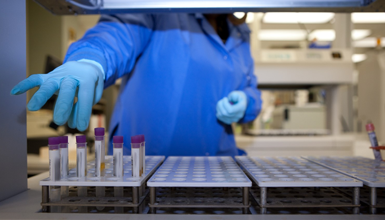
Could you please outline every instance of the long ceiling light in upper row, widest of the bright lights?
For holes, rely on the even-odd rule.
[[[268,12],[263,17],[264,23],[327,23],[334,17],[334,13],[307,12]]]

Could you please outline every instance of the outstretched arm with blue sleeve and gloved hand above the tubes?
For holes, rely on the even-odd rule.
[[[132,70],[150,41],[153,26],[152,15],[103,15],[94,28],[70,46],[63,65],[48,74],[31,75],[11,94],[39,87],[27,105],[30,111],[37,111],[58,92],[54,122],[63,125],[68,121],[69,127],[84,131],[103,87]]]

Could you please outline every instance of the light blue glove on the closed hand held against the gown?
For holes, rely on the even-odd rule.
[[[238,122],[247,108],[247,96],[242,91],[233,91],[217,103],[217,118],[225,124]]]

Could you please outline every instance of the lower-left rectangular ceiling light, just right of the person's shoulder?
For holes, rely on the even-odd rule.
[[[299,41],[305,40],[305,30],[260,30],[259,40],[263,41]]]

